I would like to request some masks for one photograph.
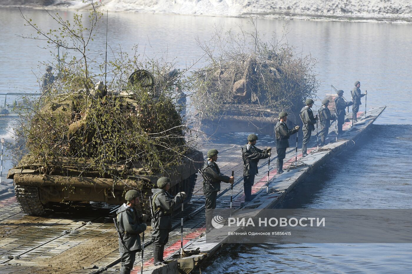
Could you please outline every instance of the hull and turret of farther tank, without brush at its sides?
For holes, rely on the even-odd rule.
[[[280,111],[264,106],[267,94],[261,86],[263,81],[276,82],[282,77],[279,62],[276,55],[269,55],[266,60],[248,58],[236,67],[228,63],[217,70],[202,72],[201,78],[208,79],[210,83],[209,97],[219,98],[218,102],[213,102],[219,105],[219,109],[197,114],[202,130],[208,134],[256,132],[274,136],[274,126]],[[200,106],[199,109],[204,108]],[[286,110],[290,125],[297,124],[299,120],[296,117],[299,116]]]

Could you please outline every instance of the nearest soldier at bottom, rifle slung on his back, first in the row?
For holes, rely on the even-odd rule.
[[[136,210],[139,204],[140,193],[137,190],[129,190],[124,195],[124,203],[117,210],[117,223],[122,239],[119,239],[119,252],[122,261],[120,274],[130,274],[136,253],[141,250],[140,233],[146,230],[147,215],[140,215]]]

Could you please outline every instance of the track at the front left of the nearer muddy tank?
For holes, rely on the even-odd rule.
[[[14,186],[16,199],[19,202],[21,210],[34,216],[46,214],[47,204],[40,202],[40,193],[37,186]]]

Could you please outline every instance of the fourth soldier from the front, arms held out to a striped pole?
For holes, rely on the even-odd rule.
[[[245,192],[245,202],[252,200],[252,186],[255,183],[255,175],[258,174],[259,160],[270,157],[271,147],[258,149],[255,144],[258,136],[250,134],[248,143],[242,148],[243,158],[243,190]]]

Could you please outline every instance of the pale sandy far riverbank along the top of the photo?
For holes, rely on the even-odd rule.
[[[316,1],[316,0],[315,0]],[[96,1],[99,2],[99,1]],[[407,3],[402,6],[399,1],[395,0],[392,5],[387,6],[384,0],[375,0],[376,2],[373,11],[369,11],[368,7],[357,7],[354,3],[351,7],[344,6],[340,0],[331,1],[328,7],[313,8],[310,7],[309,1],[302,1],[300,5],[273,7],[266,0],[260,2],[260,7],[248,5],[233,4],[233,9],[230,14],[227,9],[218,9],[218,6],[210,7],[210,5],[201,5],[183,8],[184,0],[158,1],[157,4],[145,5],[140,3],[140,0],[126,1],[101,1],[105,4],[104,9],[110,12],[140,12],[140,13],[155,13],[155,14],[179,14],[179,15],[197,15],[197,16],[222,16],[222,17],[249,17],[251,14],[258,18],[266,19],[286,19],[286,20],[311,20],[311,21],[339,21],[339,22],[375,22],[375,23],[412,23],[412,6]],[[208,2],[208,1],[200,1]],[[267,2],[267,3],[266,3]],[[332,3],[335,2],[335,3]],[[356,0],[354,1],[356,2]],[[250,4],[250,3],[249,3]],[[311,3],[314,5],[314,3]],[[4,0],[0,3],[0,7],[21,7],[48,10],[89,10],[89,5],[82,1],[56,1],[56,0]],[[230,8],[230,7],[229,7]],[[356,9],[357,8],[357,9]],[[353,10],[356,9],[356,10]],[[249,12],[255,11],[255,12]],[[361,10],[361,11],[359,11]],[[247,11],[247,12],[245,12]],[[303,12],[306,11],[306,12]]]

